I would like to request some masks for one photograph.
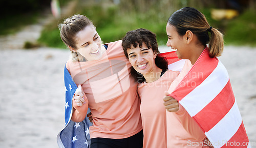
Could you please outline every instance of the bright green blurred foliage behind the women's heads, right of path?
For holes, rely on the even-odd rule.
[[[134,4],[127,3],[128,1],[121,1],[119,5],[107,4],[103,1],[99,3],[89,2],[91,1],[79,1],[75,13],[86,15],[93,21],[104,43],[121,40],[125,33],[132,29],[146,28],[157,35],[159,45],[165,45],[167,41],[165,27],[168,17],[174,11],[186,5],[197,5],[195,4],[196,1],[193,1],[193,3],[191,1],[191,4],[183,4],[182,1],[170,1],[169,3],[160,3],[166,1],[159,1],[158,4],[152,3],[144,7],[142,7],[143,5],[137,5],[138,1],[132,0],[129,2]],[[176,7],[172,5],[174,2],[176,2]],[[133,5],[136,7],[133,7]],[[217,21],[211,18],[210,7],[206,8],[201,5],[197,9],[206,16],[211,26],[218,28],[224,34],[225,44],[255,46],[256,20],[252,19],[256,18],[255,10],[246,10],[232,20]],[[69,16],[71,15],[73,14]],[[66,16],[66,18],[69,16]],[[63,20],[61,19],[59,22]],[[53,24],[55,27],[48,26],[42,31],[39,42],[47,46],[67,48],[59,37],[56,22]]]

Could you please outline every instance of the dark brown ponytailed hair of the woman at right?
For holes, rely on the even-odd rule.
[[[184,36],[189,30],[197,36],[202,45],[206,46],[209,43],[210,57],[221,55],[224,48],[222,33],[211,27],[205,16],[197,9],[191,7],[179,9],[169,17],[168,23],[176,28],[180,36]],[[211,37],[208,32],[211,33]]]

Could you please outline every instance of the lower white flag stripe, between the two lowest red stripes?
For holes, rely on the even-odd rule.
[[[242,117],[237,103],[234,102],[232,108],[223,117],[223,119],[208,132],[205,132],[205,135],[213,143],[228,141],[238,131],[241,124]],[[216,147],[221,147],[224,144],[225,143],[218,144]]]

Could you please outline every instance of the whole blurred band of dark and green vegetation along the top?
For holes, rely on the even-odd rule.
[[[0,35],[33,23],[49,10],[51,0],[1,0]],[[47,24],[38,42],[67,48],[59,37],[58,24],[73,14],[89,17],[104,43],[122,39],[127,31],[147,28],[156,33],[158,43],[167,41],[165,26],[173,12],[183,7],[201,11],[209,24],[224,34],[225,44],[256,46],[256,0],[58,0],[60,17]],[[69,7],[71,6],[72,7]],[[48,9],[46,9],[48,8]],[[65,10],[69,9],[69,11]]]

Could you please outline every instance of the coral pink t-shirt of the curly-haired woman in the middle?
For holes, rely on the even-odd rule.
[[[143,147],[166,147],[166,110],[163,105],[164,91],[179,72],[167,70],[158,80],[141,83],[138,93],[141,98],[140,112],[143,126]]]

